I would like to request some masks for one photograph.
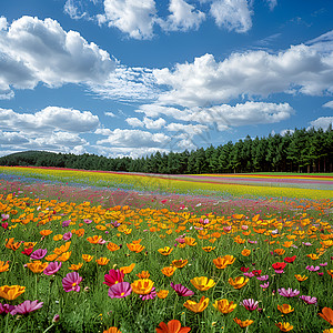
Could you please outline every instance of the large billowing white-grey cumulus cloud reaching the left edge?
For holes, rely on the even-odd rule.
[[[0,93],[64,83],[103,82],[115,67],[110,54],[52,19],[22,17],[0,22]]]

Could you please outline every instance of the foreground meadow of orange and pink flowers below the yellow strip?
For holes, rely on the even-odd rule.
[[[333,331],[332,191],[181,195],[24,176],[0,176],[0,332]]]

